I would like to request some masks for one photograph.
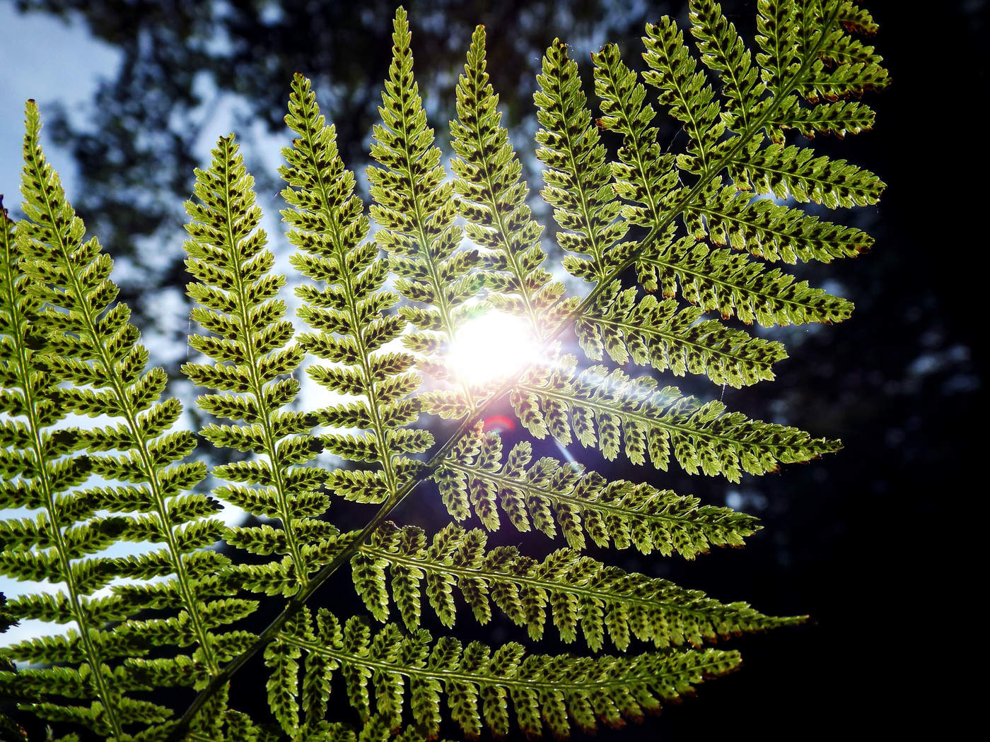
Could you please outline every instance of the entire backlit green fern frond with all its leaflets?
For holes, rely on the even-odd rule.
[[[198,436],[177,427],[182,406],[162,398],[165,373],[146,368],[129,310],[115,302],[112,261],[83,239],[29,102],[24,218],[3,211],[0,225],[0,501],[19,509],[0,521],[0,570],[51,587],[0,606],[5,624],[68,626],[3,650],[5,703],[66,740],[412,742],[457,727],[472,738],[485,728],[560,736],[639,718],[739,665],[711,641],[802,620],[583,553],[693,559],[759,527],[661,489],[647,464],[738,482],[839,448],[658,377],[772,379],[783,345],[740,323],[849,316],[848,301],[778,264],[871,244],[802,204],[872,204],[883,184],[794,134],[870,128],[858,99],[887,76],[858,37],[875,26],[844,0],[760,0],[754,53],[718,4],[690,10],[697,53],[663,18],[646,26],[643,74],[618,46],[592,55],[597,119],[567,46],[546,49],[536,155],[554,249],[501,125],[483,28],[456,86],[448,178],[407,17],[396,13],[370,219],[334,127],[297,75],[280,174],[299,325],[279,298],[289,281],[273,270],[238,144],[221,138],[186,204],[200,330],[189,337],[199,357],[182,371],[216,418]],[[683,136],[662,141],[661,115]],[[549,264],[554,251],[566,280]],[[489,313],[518,317],[539,350],[479,380],[451,358],[459,334]],[[301,395],[302,374],[331,401]],[[510,408],[526,431],[512,444],[485,424]],[[545,438],[565,461],[538,455]],[[200,439],[241,455],[208,472],[191,458]],[[575,442],[647,473],[602,476],[574,461]],[[455,522],[388,521],[410,497],[435,500]],[[336,510],[367,505],[376,510],[363,528],[335,524]],[[254,520],[225,526],[225,506]],[[493,545],[488,532],[503,524],[560,541]],[[132,553],[107,554],[120,540]],[[355,615],[320,604],[342,567],[363,603]],[[278,612],[259,630],[249,618],[261,601]],[[426,611],[442,635],[421,625]],[[485,624],[496,612],[535,646],[449,633],[458,616]],[[540,653],[551,625],[572,654]],[[238,671],[255,655],[269,707],[229,707],[230,684],[244,682]],[[331,706],[338,684],[349,714]],[[171,687],[180,690],[155,693]]]

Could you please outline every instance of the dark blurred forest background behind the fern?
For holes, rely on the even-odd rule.
[[[39,0],[18,6],[81,12],[94,35],[125,52],[118,77],[104,84],[90,111],[89,129],[96,134],[73,131],[67,118],[48,133],[72,148],[84,194],[74,206],[115,257],[141,265],[138,235],[148,235],[144,249],[160,240],[176,250],[173,267],[154,279],[159,286],[186,281],[175,235],[192,167],[203,164],[190,151],[202,118],[198,106],[210,104],[192,92],[197,70],[207,70],[221,91],[244,95],[246,119],[261,117],[272,127],[281,126],[292,72],[311,75],[325,113],[338,126],[348,165],[360,171],[367,162],[367,136],[389,61],[391,1],[286,0],[275,22],[266,15],[270,9],[240,1]],[[755,4],[725,6],[751,43]],[[985,124],[977,115],[987,93],[985,7],[867,7],[881,24],[873,44],[893,84],[868,98],[877,112],[873,132],[818,139],[815,147],[888,183],[878,207],[829,217],[865,229],[876,243],[856,260],[796,269],[813,284],[829,281],[856,312],[838,326],[767,333],[784,340],[790,353],[777,366],[777,381],[726,390],[724,397],[731,409],[752,417],[841,438],[844,449],[784,467],[780,475],[748,477],[739,487],[624,471],[587,452],[582,456],[591,468],[696,493],[707,503],[723,505],[731,496],[764,526],[743,550],[713,552],[691,563],[599,556],[720,600],[744,600],[767,613],[807,613],[814,620],[734,640],[731,645],[743,650],[742,672],[704,686],[699,697],[666,709],[628,736],[603,730],[601,739],[950,735],[973,702],[977,681],[963,671],[982,655],[982,626],[972,606],[985,584],[974,562],[982,511],[973,496],[986,488],[982,451],[971,432],[982,401],[985,353],[976,337],[985,312],[977,283],[986,249],[985,232],[977,229],[985,210],[985,187],[979,185],[986,181]],[[486,25],[492,82],[524,162],[536,129],[533,75],[554,36],[574,46],[587,77],[591,48],[616,41],[627,62],[636,64],[644,22],[664,13],[683,21],[686,13],[680,3],[640,3],[629,11],[608,0],[408,2],[406,8],[417,76],[441,137],[470,31],[475,23]],[[230,42],[219,50],[210,44],[218,35]],[[141,139],[137,132],[144,133]],[[246,146],[249,152],[249,137]],[[273,173],[252,172],[258,192],[278,190]],[[534,170],[536,188],[538,178]],[[146,322],[152,321],[151,291],[148,285],[125,286],[131,306],[145,308]],[[722,394],[703,381],[676,383],[707,398]],[[429,522],[429,495],[418,498],[396,519]],[[432,520],[438,527],[444,513],[438,510]],[[521,543],[518,534],[504,530],[499,537]],[[527,537],[524,548],[545,553],[549,544],[535,538]],[[328,586],[327,595],[351,590],[347,576],[340,577],[342,592]],[[467,611],[458,612],[457,630],[466,636],[529,643],[511,625],[475,631]],[[541,647],[557,649],[549,642]]]

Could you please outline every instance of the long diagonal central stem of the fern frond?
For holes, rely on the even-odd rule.
[[[650,245],[650,243],[656,238],[656,235],[666,231],[678,216],[680,216],[683,211],[698,198],[698,196],[705,190],[708,183],[714,178],[731,160],[736,154],[743,149],[743,146],[752,139],[752,137],[759,131],[764,125],[772,121],[773,115],[776,113],[777,108],[780,105],[780,101],[786,97],[791,91],[793,91],[801,79],[807,74],[808,70],[812,66],[813,62],[817,59],[818,50],[823,46],[825,40],[828,38],[829,34],[832,32],[836,24],[836,19],[839,15],[841,5],[837,4],[832,12],[832,15],[825,19],[823,24],[823,31],[818,38],[816,45],[809,50],[806,54],[805,60],[801,67],[794,73],[790,78],[788,83],[781,86],[781,94],[774,97],[773,102],[766,107],[762,114],[753,120],[748,127],[739,135],[736,143],[728,149],[728,151],[715,163],[709,165],[705,171],[699,176],[698,182],[695,183],[688,192],[678,199],[673,208],[670,210],[669,214],[664,217],[659,222],[655,223],[649,232],[646,233],[644,239],[638,249],[631,251],[631,253],[618,264],[609,274],[605,276],[592,290],[584,297],[584,299],[569,313],[567,313],[556,325],[556,327],[550,332],[549,335],[545,336],[544,346],[547,347],[556,337],[558,337],[564,329],[569,325],[574,323],[579,319],[587,310],[598,300],[600,295],[612,284],[614,280],[619,278],[619,276],[630,266],[636,259],[644,252],[644,250]],[[399,490],[394,492],[394,495],[390,496],[383,504],[382,507],[375,513],[374,517],[361,529],[357,534],[355,539],[347,545],[343,551],[341,551],[333,561],[325,565],[310,581],[309,584],[304,587],[296,596],[291,598],[282,612],[258,635],[257,640],[251,644],[251,646],[243,654],[238,656],[235,660],[229,663],[220,673],[213,677],[209,685],[200,692],[198,696],[193,700],[192,704],[186,709],[186,712],[182,715],[182,718],[177,722],[176,726],[173,727],[171,733],[166,738],[165,742],[179,742],[182,739],[183,731],[188,728],[189,723],[192,721],[193,717],[207,701],[207,699],[219,691],[225,683],[227,683],[233,675],[240,670],[247,661],[253,657],[257,652],[262,650],[265,645],[267,645],[275,636],[278,634],[282,626],[285,625],[289,618],[293,617],[298,613],[306,601],[312,596],[319,587],[326,582],[331,575],[333,575],[342,565],[344,565],[349,559],[360,549],[364,541],[371,535],[371,533],[384,521],[388,516],[389,512],[396,508],[409,494],[423,481],[428,479],[432,473],[437,469],[438,466],[446,458],[446,454],[453,448],[454,444],[460,437],[467,432],[474,424],[483,417],[483,414],[487,408],[492,405],[495,401],[500,399],[505,395],[513,386],[518,383],[519,379],[522,377],[526,370],[526,366],[521,367],[516,373],[511,374],[505,382],[503,382],[496,390],[488,395],[481,403],[479,403],[475,408],[472,415],[466,417],[460,425],[457,427],[456,431],[446,440],[446,442],[437,450],[437,452],[430,458],[430,461],[420,470],[418,479],[411,479],[405,485],[403,485]],[[372,406],[372,410],[375,408]],[[383,462],[384,464],[384,462]],[[283,636],[283,640],[290,641],[290,637]],[[316,647],[315,651],[323,650],[322,647]]]

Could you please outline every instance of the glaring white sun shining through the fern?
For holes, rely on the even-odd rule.
[[[523,318],[493,310],[461,325],[449,362],[468,384],[486,384],[535,361],[537,350]]]

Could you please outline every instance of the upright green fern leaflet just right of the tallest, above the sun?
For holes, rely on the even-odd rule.
[[[485,30],[471,36],[464,73],[457,82],[457,120],[450,122],[450,146],[456,158],[450,165],[460,214],[467,220],[468,238],[493,250],[486,273],[495,309],[530,321],[536,337],[550,323],[551,307],[563,294],[563,284],[551,281],[543,268],[543,228],[526,203],[530,189],[522,178],[522,164],[501,126],[498,96],[488,82]]]

